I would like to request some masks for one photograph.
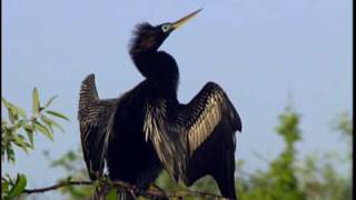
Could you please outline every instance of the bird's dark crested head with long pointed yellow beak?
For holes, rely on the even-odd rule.
[[[196,10],[176,22],[166,22],[156,27],[148,22],[138,24],[134,31],[130,54],[134,56],[139,52],[157,51],[174,30],[189,21],[200,11],[201,9]]]

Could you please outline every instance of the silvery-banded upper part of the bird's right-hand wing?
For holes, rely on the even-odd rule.
[[[185,107],[184,114],[185,118],[179,119],[184,120],[180,124],[186,128],[190,157],[222,123],[231,131],[241,130],[237,111],[224,90],[212,82],[207,83]]]

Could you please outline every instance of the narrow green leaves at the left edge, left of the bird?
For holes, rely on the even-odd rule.
[[[32,113],[29,117],[22,108],[1,98],[1,104],[8,113],[8,118],[1,117],[1,163],[16,163],[16,148],[27,153],[32,150],[34,148],[34,133],[42,133],[53,140],[53,128],[63,131],[63,128],[49,117],[68,120],[66,116],[48,110],[55,98],[51,98],[44,103],[44,107],[41,107],[38,90],[34,88],[32,91]],[[24,174],[18,173],[17,179],[12,180],[6,173],[1,178],[1,198],[18,197],[26,186],[27,178]]]

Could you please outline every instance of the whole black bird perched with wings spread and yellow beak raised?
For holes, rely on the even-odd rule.
[[[121,97],[101,100],[95,76],[83,80],[78,119],[90,179],[102,176],[106,162],[111,180],[147,189],[164,168],[187,186],[210,174],[224,197],[236,199],[235,132],[241,131],[237,111],[214,82],[189,103],[180,103],[178,66],[159,50],[174,30],[199,11],[174,23],[137,27],[129,53],[146,79]]]

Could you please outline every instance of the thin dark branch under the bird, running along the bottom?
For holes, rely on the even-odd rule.
[[[136,196],[142,196],[146,198],[158,198],[158,199],[165,199],[165,198],[178,198],[181,199],[184,197],[201,197],[206,199],[220,199],[220,200],[228,200],[227,198],[224,198],[221,196],[212,194],[212,193],[207,193],[207,192],[198,192],[198,191],[159,191],[159,190],[140,190],[137,187],[129,184],[127,182],[122,181],[115,181],[115,182],[106,182],[108,186],[111,188],[117,188],[120,191],[129,191],[132,194]],[[38,189],[24,189],[22,192],[23,193],[42,193],[51,190],[57,190],[59,188],[63,187],[69,187],[69,186],[93,186],[95,182],[91,181],[66,181],[66,182],[60,182],[58,184],[53,184],[50,187],[44,187],[44,188],[38,188]]]

